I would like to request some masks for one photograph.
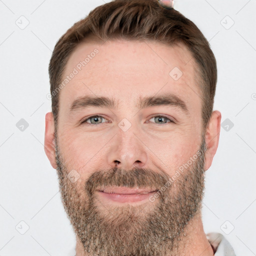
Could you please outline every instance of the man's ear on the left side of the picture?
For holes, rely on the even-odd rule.
[[[51,166],[56,169],[55,143],[54,143],[54,119],[52,112],[45,115],[44,151]]]

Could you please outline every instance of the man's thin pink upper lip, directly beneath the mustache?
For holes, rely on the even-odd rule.
[[[154,192],[157,189],[154,188],[131,188],[131,187],[124,187],[124,186],[119,186],[119,187],[103,187],[99,189],[99,191],[104,192],[104,193],[115,193],[115,194],[146,194],[149,192]]]

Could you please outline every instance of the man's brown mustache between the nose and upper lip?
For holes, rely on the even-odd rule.
[[[159,190],[170,176],[162,171],[149,168],[124,170],[117,167],[95,171],[85,182],[85,190],[92,195],[105,186],[125,186],[130,188],[153,188]]]

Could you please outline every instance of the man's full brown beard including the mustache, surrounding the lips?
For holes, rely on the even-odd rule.
[[[68,173],[72,168],[68,171],[55,137],[62,203],[86,255],[176,255],[182,237],[187,235],[188,222],[201,210],[205,151],[203,137],[197,158],[190,160],[184,172],[179,169],[175,180],[160,168],[126,171],[115,167],[94,171],[85,181],[71,182]],[[158,197],[143,204],[113,206],[95,194],[104,186],[154,187]]]

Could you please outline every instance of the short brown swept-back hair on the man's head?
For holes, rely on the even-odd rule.
[[[51,106],[57,126],[59,93],[53,93],[61,83],[68,57],[75,46],[88,35],[99,40],[153,40],[167,45],[183,43],[192,54],[202,90],[203,128],[212,113],[217,81],[217,67],[207,39],[199,28],[177,10],[162,7],[157,0],[114,0],[90,11],[74,23],[57,41],[49,62]]]

